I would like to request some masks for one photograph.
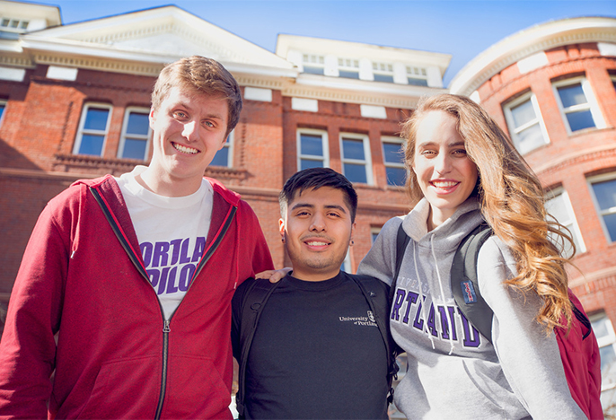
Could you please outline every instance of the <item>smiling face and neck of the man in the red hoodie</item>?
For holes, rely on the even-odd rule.
[[[152,162],[141,178],[167,197],[196,192],[207,165],[226,139],[229,105],[219,97],[173,87],[150,111]]]

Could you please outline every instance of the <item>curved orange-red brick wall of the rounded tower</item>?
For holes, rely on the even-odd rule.
[[[579,271],[569,269],[572,284],[587,311],[604,309],[616,322],[616,277],[611,272],[616,272],[616,242],[609,242],[603,232],[586,180],[594,174],[616,171],[616,91],[610,78],[616,71],[616,58],[602,57],[596,43],[553,48],[546,55],[547,66],[520,74],[514,64],[483,83],[478,89],[481,105],[507,131],[503,105],[529,90],[535,94],[550,144],[524,158],[545,188],[561,186],[567,190],[586,248],[573,260]],[[580,75],[591,84],[607,127],[569,135],[552,82]]]

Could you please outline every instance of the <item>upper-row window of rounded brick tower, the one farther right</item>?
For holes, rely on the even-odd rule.
[[[603,128],[601,111],[594,101],[593,90],[584,77],[554,83],[560,112],[569,133],[585,128]]]

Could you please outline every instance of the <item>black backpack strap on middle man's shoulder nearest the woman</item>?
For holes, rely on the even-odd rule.
[[[374,323],[381,332],[383,342],[385,343],[385,351],[388,355],[387,361],[387,386],[389,389],[389,395],[387,396],[387,403],[391,404],[393,401],[393,388],[392,383],[394,378],[398,379],[398,363],[396,363],[396,356],[398,355],[398,346],[394,343],[392,334],[390,334],[389,325],[389,310],[390,302],[389,296],[386,293],[387,284],[384,284],[381,280],[370,276],[350,276],[359,290],[364,294],[366,302],[370,307],[374,315]]]

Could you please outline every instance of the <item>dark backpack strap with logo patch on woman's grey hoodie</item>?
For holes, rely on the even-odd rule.
[[[483,300],[477,280],[477,259],[481,245],[492,235],[488,223],[481,223],[460,243],[453,257],[451,284],[453,298],[471,324],[492,342],[493,311]]]

